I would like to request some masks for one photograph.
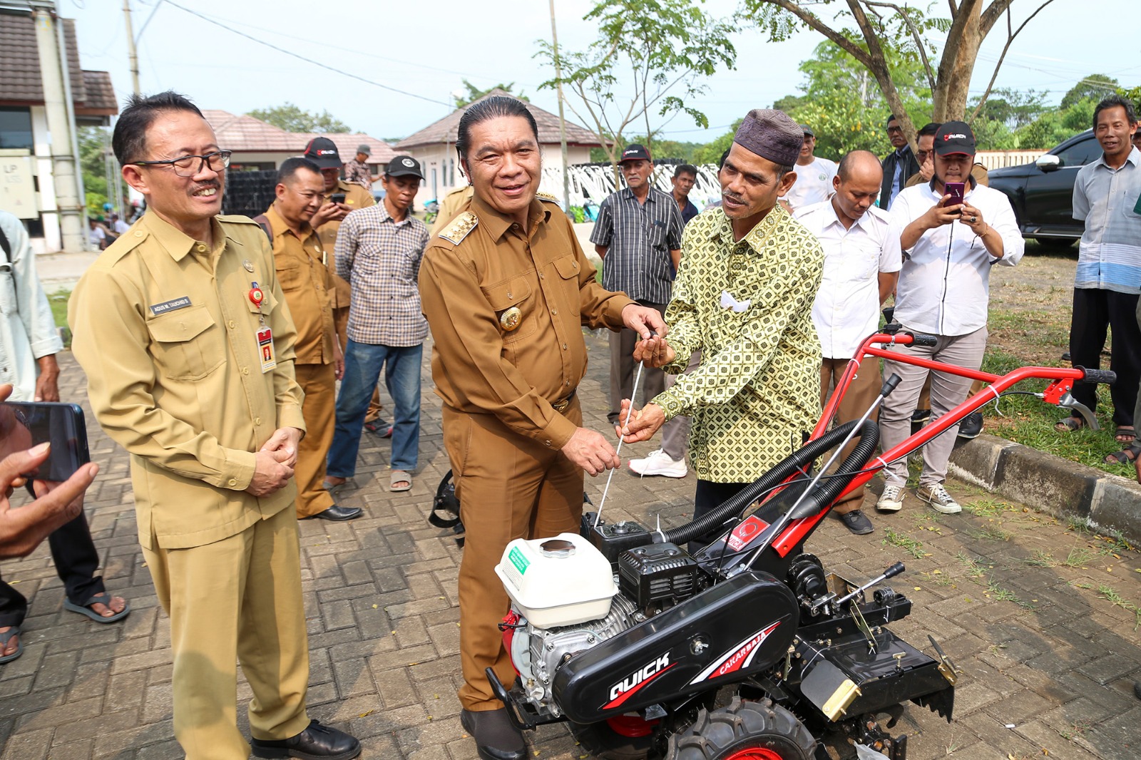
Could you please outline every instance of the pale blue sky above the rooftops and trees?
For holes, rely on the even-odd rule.
[[[560,46],[565,50],[585,47],[594,30],[582,16],[593,3],[555,2]],[[1015,0],[1015,26],[1038,5],[1037,0]],[[736,6],[737,0],[705,3],[717,16],[731,15]],[[84,68],[110,71],[122,100],[130,91],[130,74],[121,2],[58,0],[58,7],[78,22]],[[450,94],[467,78],[480,87],[513,81],[516,89],[523,89],[537,105],[557,111],[553,92],[536,89],[549,76],[533,58],[535,40],[549,39],[551,33],[544,0],[131,0],[131,7],[139,35],[143,91],[176,89],[203,108],[244,113],[290,100],[310,111],[327,110],[374,137],[403,137],[448,113],[445,104]],[[1097,16],[1089,13],[1090,7],[1082,0],[1054,0],[1014,42],[996,86],[1049,90],[1057,100],[1090,73],[1117,76],[1126,86],[1141,83],[1141,37],[1125,34],[1109,40],[1098,29],[1104,23],[1112,26],[1114,22],[1106,19],[1115,18],[1124,27],[1141,27],[1135,1],[1098,0]],[[946,11],[941,3],[930,8],[933,14]],[[826,7],[818,3],[816,9],[823,14]],[[691,120],[680,116],[665,124],[665,136],[709,140],[750,108],[796,92],[801,81],[796,66],[820,39],[802,32],[774,45],[758,31],[742,29],[734,38],[736,71],[710,78],[709,92],[695,103],[709,116],[710,129],[697,129]],[[1004,37],[996,32],[984,45],[972,92],[986,87],[1003,42]],[[650,123],[656,128],[657,122]]]

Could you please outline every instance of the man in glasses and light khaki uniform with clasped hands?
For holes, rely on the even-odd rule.
[[[266,236],[219,217],[229,152],[189,100],[133,96],[115,123],[148,211],[71,298],[99,423],[131,454],[139,542],[170,614],[175,736],[188,760],[246,760],[235,661],[259,758],[349,760],[309,720],[297,515],[297,333]]]

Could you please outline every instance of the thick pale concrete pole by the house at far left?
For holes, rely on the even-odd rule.
[[[80,197],[81,177],[78,171],[79,154],[75,149],[74,120],[70,118],[68,94],[71,82],[66,49],[59,43],[63,26],[47,8],[35,8],[35,46],[40,56],[40,78],[43,86],[43,111],[51,134],[51,177],[59,209],[59,237],[64,251],[83,250],[87,240],[83,227],[83,201]]]

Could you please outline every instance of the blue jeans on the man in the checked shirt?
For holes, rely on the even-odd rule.
[[[337,428],[329,447],[326,472],[335,478],[356,474],[361,428],[369,410],[372,389],[385,367],[385,385],[393,397],[396,419],[393,423],[394,470],[414,470],[420,448],[420,346],[372,346],[349,340],[345,350],[345,374],[337,395]]]

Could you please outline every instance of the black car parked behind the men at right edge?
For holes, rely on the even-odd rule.
[[[1083,224],[1074,218],[1077,170],[1101,156],[1093,130],[1069,138],[1034,163],[994,169],[990,187],[1002,191],[1014,208],[1025,237],[1051,245],[1071,245]]]

